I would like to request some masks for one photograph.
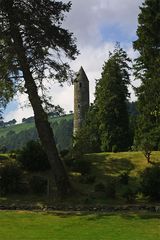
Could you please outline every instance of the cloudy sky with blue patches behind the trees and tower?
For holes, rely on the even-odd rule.
[[[66,1],[66,0],[65,0]],[[72,0],[72,10],[67,14],[65,27],[74,33],[80,50],[78,58],[70,65],[74,71],[83,66],[90,81],[90,99],[94,100],[95,79],[101,76],[104,61],[118,41],[131,58],[136,53],[132,42],[136,39],[137,16],[143,0]],[[133,81],[133,85],[136,83]],[[131,91],[132,100],[135,99]],[[73,110],[73,86],[55,85],[50,95],[53,103],[66,112]],[[33,115],[25,94],[17,96],[4,113],[5,121]]]

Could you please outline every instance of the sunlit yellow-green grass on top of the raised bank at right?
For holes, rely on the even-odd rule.
[[[103,176],[118,176],[124,171],[130,176],[137,176],[146,167],[151,166],[142,152],[93,153],[86,155],[86,160],[92,163],[96,175],[100,173]],[[151,160],[160,162],[160,152],[152,152]]]

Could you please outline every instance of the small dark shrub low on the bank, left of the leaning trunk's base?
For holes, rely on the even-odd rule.
[[[47,192],[47,180],[41,176],[31,177],[29,185],[32,193],[45,194]]]

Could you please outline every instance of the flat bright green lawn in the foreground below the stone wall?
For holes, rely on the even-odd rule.
[[[0,212],[3,240],[160,240],[160,216]]]

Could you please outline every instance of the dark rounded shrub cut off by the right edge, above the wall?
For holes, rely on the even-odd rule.
[[[160,166],[146,168],[141,174],[141,190],[153,200],[160,200]]]

